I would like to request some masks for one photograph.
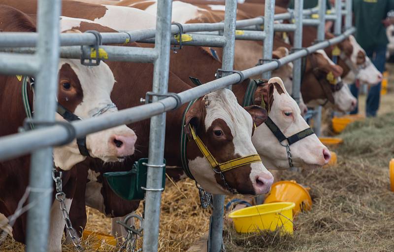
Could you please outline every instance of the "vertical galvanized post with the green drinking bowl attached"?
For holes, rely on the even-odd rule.
[[[153,70],[153,92],[164,94],[168,90],[168,70],[171,37],[171,8],[172,0],[158,0],[156,17],[156,41],[155,50],[158,58],[154,62]],[[153,97],[153,102],[158,97]],[[150,165],[163,165],[164,158],[164,135],[165,135],[165,113],[153,116],[150,122],[149,133],[149,159]],[[160,203],[162,199],[163,168],[149,167],[146,180],[145,194],[145,221],[144,241],[142,249],[144,252],[158,251]]]

